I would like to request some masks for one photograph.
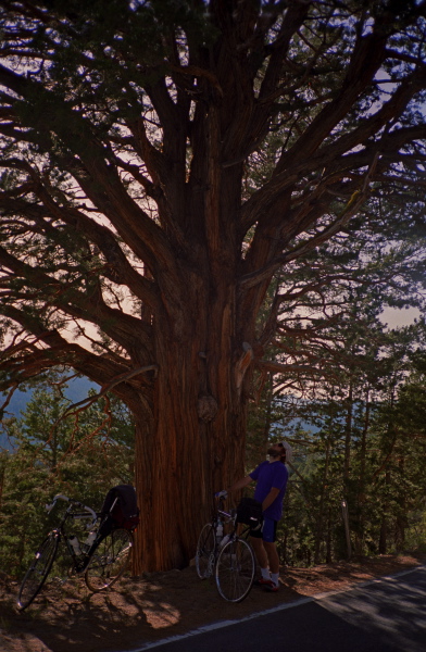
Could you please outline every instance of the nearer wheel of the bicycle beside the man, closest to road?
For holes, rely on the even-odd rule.
[[[216,586],[222,598],[228,602],[241,602],[254,579],[254,554],[245,540],[235,538],[222,548],[216,563]]]

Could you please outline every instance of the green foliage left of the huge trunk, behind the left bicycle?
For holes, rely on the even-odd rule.
[[[100,510],[111,487],[134,481],[128,411],[106,398],[77,415],[65,388],[61,374],[49,374],[36,386],[22,418],[7,424],[15,442],[15,452],[0,457],[0,568],[8,573],[26,568],[52,527],[57,514],[47,516],[45,505],[54,494]]]

